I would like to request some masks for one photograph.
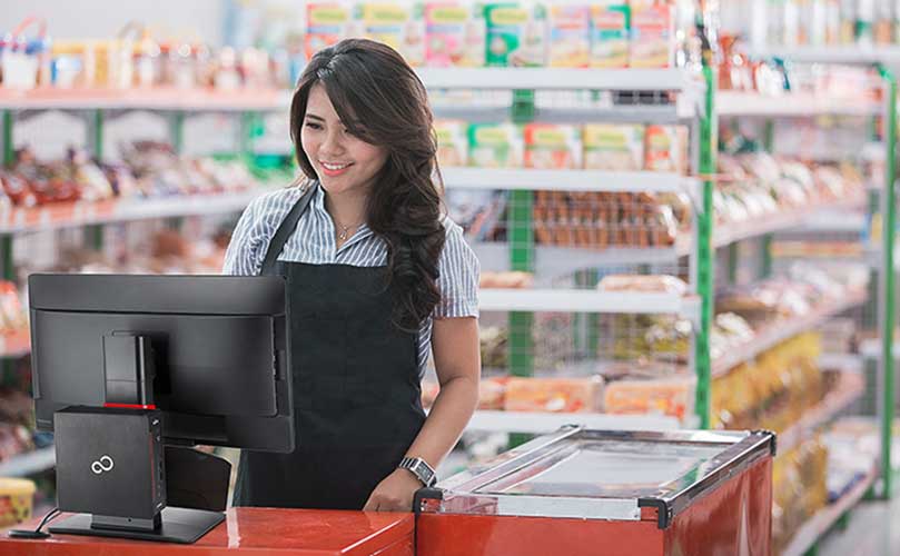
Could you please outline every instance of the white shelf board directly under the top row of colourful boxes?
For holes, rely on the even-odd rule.
[[[417,68],[428,89],[681,91],[696,81],[681,69]]]

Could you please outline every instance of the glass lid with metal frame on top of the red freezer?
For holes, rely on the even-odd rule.
[[[417,510],[446,514],[637,520],[657,507],[660,527],[759,459],[765,431],[634,433],[564,427],[422,493]]]

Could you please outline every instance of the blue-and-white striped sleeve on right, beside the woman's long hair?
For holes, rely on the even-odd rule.
[[[434,318],[477,317],[481,264],[466,244],[463,229],[449,219],[445,227],[447,239],[437,262],[441,304]]]

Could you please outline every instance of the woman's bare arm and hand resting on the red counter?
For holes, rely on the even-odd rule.
[[[482,368],[478,319],[435,319],[432,348],[441,391],[406,455],[421,457],[437,468],[456,446],[478,405]],[[409,512],[413,496],[422,484],[412,473],[396,469],[378,484],[363,509]]]

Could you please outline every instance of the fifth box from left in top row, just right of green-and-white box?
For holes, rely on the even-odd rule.
[[[586,68],[591,53],[591,10],[587,4],[551,6],[550,64]]]

